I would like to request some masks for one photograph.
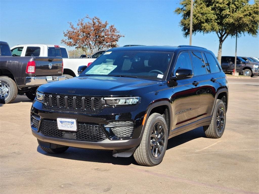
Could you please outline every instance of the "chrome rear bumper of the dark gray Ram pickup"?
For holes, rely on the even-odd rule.
[[[66,77],[64,75],[61,76],[51,76],[52,80],[47,80],[47,77],[50,76],[27,76],[25,77],[25,86],[32,87],[32,86],[40,86],[43,84],[51,83],[54,81],[61,81],[65,80]]]

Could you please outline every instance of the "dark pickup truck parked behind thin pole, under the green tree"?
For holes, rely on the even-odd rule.
[[[235,57],[222,56],[221,68],[224,72],[233,72],[235,68]],[[258,64],[255,62],[245,61],[241,57],[236,57],[236,72],[244,76],[258,76]]]

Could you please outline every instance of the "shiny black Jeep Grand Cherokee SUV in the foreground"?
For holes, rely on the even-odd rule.
[[[227,79],[211,51],[118,47],[79,77],[40,86],[31,128],[48,153],[102,149],[154,166],[171,137],[203,126],[207,137],[220,138],[227,104]]]

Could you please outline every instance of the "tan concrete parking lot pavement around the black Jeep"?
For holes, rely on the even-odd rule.
[[[45,153],[31,134],[32,101],[18,95],[0,107],[1,193],[259,193],[259,77],[228,82],[222,138],[202,128],[171,138],[155,167],[107,151]]]

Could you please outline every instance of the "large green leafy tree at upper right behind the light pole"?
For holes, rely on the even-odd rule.
[[[259,27],[259,1],[249,0],[194,0],[193,34],[215,32],[219,38],[218,61],[221,63],[222,43],[228,36],[248,33],[256,36]],[[175,13],[181,14],[180,25],[184,36],[190,34],[191,0],[181,0]]]

